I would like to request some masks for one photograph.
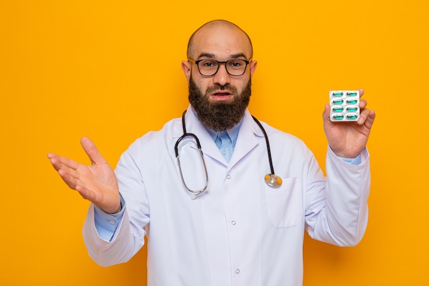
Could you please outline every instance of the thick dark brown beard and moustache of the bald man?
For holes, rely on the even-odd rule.
[[[197,117],[206,128],[211,130],[225,131],[236,126],[243,118],[244,112],[249,105],[250,95],[252,94],[252,81],[249,79],[243,91],[238,93],[237,89],[230,84],[221,86],[215,84],[207,88],[205,94],[194,82],[189,79],[188,99],[191,106],[197,112]],[[229,91],[233,97],[228,101],[210,101],[210,94],[215,91]]]

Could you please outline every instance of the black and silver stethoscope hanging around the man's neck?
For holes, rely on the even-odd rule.
[[[206,167],[206,161],[204,160],[204,155],[203,155],[203,152],[201,150],[201,143],[199,143],[199,139],[198,139],[197,135],[195,135],[193,133],[186,132],[185,114],[186,114],[186,110],[184,110],[184,112],[182,114],[183,135],[180,136],[179,139],[177,139],[175,146],[174,146],[174,152],[175,152],[175,157],[177,158],[177,165],[179,165],[180,177],[182,178],[182,182],[184,184],[184,187],[191,193],[191,199],[194,200],[195,198],[197,198],[197,196],[203,194],[207,190],[208,172],[207,172],[207,167]],[[264,180],[270,187],[278,188],[282,185],[282,178],[280,178],[280,176],[277,176],[274,174],[273,160],[271,159],[271,150],[269,148],[269,141],[268,141],[267,132],[265,132],[265,129],[262,127],[262,124],[258,121],[258,119],[256,119],[256,117],[254,117],[252,115],[252,118],[258,124],[260,130],[262,130],[262,133],[264,134],[264,137],[265,137],[265,142],[267,143],[268,161],[269,161],[269,167],[271,169],[271,174],[265,175]],[[197,142],[197,148],[199,150],[199,154],[201,156],[201,160],[202,160],[203,165],[204,165],[204,171],[206,173],[206,184],[204,185],[204,188],[202,188],[202,189],[191,189],[188,187],[188,185],[186,184],[186,182],[184,180],[182,167],[180,166],[180,156],[179,156],[178,146],[179,146],[180,141],[182,141],[182,139],[184,139],[185,137],[188,137],[188,136],[193,137],[193,139],[195,139],[195,141]]]

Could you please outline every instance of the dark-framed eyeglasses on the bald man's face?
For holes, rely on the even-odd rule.
[[[219,71],[219,67],[221,66],[221,64],[225,64],[226,72],[229,75],[240,76],[240,75],[244,75],[247,68],[247,64],[249,64],[249,62],[252,62],[252,59],[250,60],[234,59],[234,60],[227,60],[226,62],[219,62],[218,60],[208,60],[208,59],[193,60],[191,58],[188,58],[188,62],[197,64],[199,73],[201,73],[201,75],[204,75],[204,76],[215,75],[217,71]]]

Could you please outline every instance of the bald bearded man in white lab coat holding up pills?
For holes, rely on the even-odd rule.
[[[252,53],[236,25],[206,23],[191,36],[182,62],[191,103],[182,119],[134,142],[115,172],[86,138],[92,166],[48,155],[66,184],[93,202],[84,240],[97,263],[129,260],[147,235],[148,285],[302,285],[304,230],[339,246],[363,237],[365,145],[375,112],[361,99],[357,122],[333,123],[326,105],[324,178],[302,141],[258,126],[249,114]],[[264,180],[273,171],[262,128],[280,187]]]

